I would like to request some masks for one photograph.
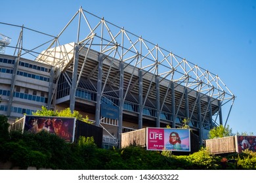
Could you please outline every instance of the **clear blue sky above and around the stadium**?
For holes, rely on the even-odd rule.
[[[256,135],[256,1],[8,0],[0,22],[58,35],[80,6],[219,75],[236,95],[228,125]]]

